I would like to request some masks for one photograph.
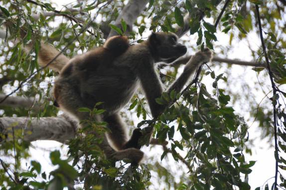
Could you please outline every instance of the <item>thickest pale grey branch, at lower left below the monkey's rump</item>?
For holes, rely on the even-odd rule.
[[[0,118],[0,134],[8,140],[14,130],[16,138],[25,141],[54,140],[63,143],[75,137],[76,129],[77,123],[63,116],[32,118],[31,121],[29,117]]]

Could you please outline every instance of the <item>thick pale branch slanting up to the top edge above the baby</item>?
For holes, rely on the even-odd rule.
[[[148,0],[130,0],[127,5],[124,6],[122,13],[115,20],[114,25],[120,26],[121,19],[123,19],[126,24],[128,30],[132,29],[132,25],[141,13],[141,11],[145,8]],[[111,30],[108,37],[117,35],[116,31]]]

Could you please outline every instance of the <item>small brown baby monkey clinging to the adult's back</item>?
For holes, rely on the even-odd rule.
[[[77,88],[82,99],[88,99],[85,93],[85,83],[95,73],[103,73],[111,67],[116,57],[123,54],[129,47],[127,36],[113,36],[106,40],[103,46],[94,48],[83,55],[71,59],[60,71],[60,77],[77,78]],[[54,88],[56,89],[56,87]],[[54,90],[55,104],[57,106],[57,93]]]

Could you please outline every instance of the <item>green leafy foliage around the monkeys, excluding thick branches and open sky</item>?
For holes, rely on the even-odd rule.
[[[118,34],[128,33],[130,39],[139,39],[137,42],[141,42],[149,30],[176,32],[176,26],[185,27],[189,24],[188,34],[190,37],[193,35],[196,37],[194,49],[206,46],[223,54],[224,49],[216,46],[218,33],[222,32],[223,35],[229,36],[230,46],[235,38],[243,40],[252,36],[256,31],[256,4],[261,8],[263,15],[262,27],[275,85],[281,87],[286,83],[286,59],[283,53],[286,47],[286,29],[283,20],[285,1],[283,0],[269,0],[268,3],[262,0],[230,0],[222,18],[218,19],[220,21],[218,27],[215,27],[214,20],[218,18],[224,1],[219,3],[219,0],[149,0],[141,18],[134,23],[133,31],[129,31],[125,20],[121,20],[120,25],[112,22],[122,11],[125,0],[75,1],[60,12],[54,8],[53,3],[33,2],[36,3],[28,0],[0,2],[0,24],[4,21],[12,23],[9,25],[12,32],[1,41],[0,49],[0,60],[4,61],[0,64],[0,87],[4,93],[14,90],[21,81],[39,69],[36,58],[40,40],[52,43],[60,49],[73,42],[63,52],[73,57],[102,45],[111,29]],[[46,11],[57,14],[45,16],[43,12]],[[39,14],[37,19],[33,15],[35,12]],[[187,23],[183,17],[186,13],[190,15]],[[82,32],[82,28],[88,23],[91,23],[90,27],[86,32]],[[52,24],[54,27],[51,27]],[[25,29],[27,33],[23,40],[15,41],[14,39],[20,36],[21,29]],[[31,52],[24,52],[22,45],[31,41],[34,44],[33,49]],[[228,51],[231,47],[226,48]],[[263,48],[254,51],[253,57],[264,62]],[[162,81],[169,84],[178,70],[178,67],[165,69],[166,75],[162,77]],[[253,70],[258,76],[262,76],[261,84],[266,83],[269,86],[267,69],[255,67]],[[78,137],[69,142],[67,158],[61,156],[59,151],[50,152],[49,159],[55,169],[47,174],[42,171],[41,163],[35,160],[23,166],[23,159],[26,161],[33,159],[30,158],[28,151],[30,143],[21,138],[15,139],[21,135],[21,132],[15,131],[11,134],[12,141],[5,141],[6,137],[0,136],[1,189],[61,190],[65,187],[86,190],[158,189],[156,182],[151,180],[151,176],[157,176],[156,180],[164,179],[161,185],[164,189],[249,190],[248,177],[256,161],[248,161],[245,158],[245,154],[251,153],[253,147],[248,143],[249,126],[241,113],[235,112],[235,104],[243,104],[242,107],[245,107],[251,119],[258,121],[257,125],[263,129],[262,134],[269,138],[275,135],[272,123],[274,120],[272,106],[274,106],[279,137],[276,161],[279,162],[279,170],[282,171],[286,169],[286,159],[281,154],[286,152],[284,102],[286,95],[278,91],[271,98],[272,105],[257,106],[256,102],[251,102],[247,92],[240,91],[236,94],[231,91],[229,87],[235,86],[237,81],[232,84],[233,76],[228,71],[219,73],[216,74],[213,69],[208,68],[203,70],[199,80],[188,86],[183,93],[174,91],[170,94],[163,93],[156,102],[168,105],[168,108],[157,119],[148,117],[147,103],[142,94],[133,97],[127,112],[136,113],[142,120],[137,127],[152,126],[155,129],[154,137],[160,142],[164,140],[169,142],[160,152],[162,162],[153,162],[150,159],[139,166],[133,166],[129,161],[115,164],[114,161],[106,160],[98,147],[101,139],[95,138],[95,133],[104,134],[108,130],[105,128],[105,123],[83,121],[89,122],[88,128],[80,129]],[[0,114],[38,118],[56,116],[58,110],[52,106],[52,97],[49,93],[55,75],[56,73],[51,70],[40,70],[17,91],[19,96],[36,97],[37,104],[43,106],[41,112],[33,109],[1,107]],[[243,97],[247,97],[247,103],[243,102]],[[81,111],[90,112],[91,115],[104,112],[96,108],[94,110],[82,108]],[[179,183],[173,176],[175,174],[172,173],[172,166],[162,164],[170,158],[169,155],[183,171],[183,175],[177,176]],[[279,188],[286,188],[283,175],[280,174],[279,178]],[[269,189],[267,183],[265,186],[261,185],[262,189]],[[275,184],[271,185],[271,189],[274,188]]]

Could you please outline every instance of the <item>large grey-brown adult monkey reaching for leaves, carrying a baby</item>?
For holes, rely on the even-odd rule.
[[[107,40],[103,48],[109,43],[116,44],[112,42],[112,39],[116,38]],[[49,45],[43,43],[41,45],[39,63],[44,66],[58,52]],[[54,96],[61,109],[71,113],[79,120],[89,119],[88,113],[77,111],[79,108],[93,109],[97,102],[104,102],[101,108],[106,112],[97,116],[96,120],[108,123],[107,127],[111,132],[107,135],[117,151],[109,145],[106,137],[99,146],[107,158],[115,160],[127,158],[139,163],[143,158],[143,152],[136,149],[135,138],[131,137],[130,141],[127,140],[125,126],[119,112],[130,101],[141,84],[151,114],[153,117],[157,117],[164,106],[155,102],[155,98],[160,97],[163,91],[155,71],[155,63],[160,61],[170,63],[184,55],[187,48],[177,42],[175,34],[156,32],[152,33],[143,43],[129,46],[127,50],[118,52],[117,55],[111,55],[111,58],[102,56],[108,55],[108,50],[102,49],[102,51],[99,53],[101,51],[96,48],[94,51],[69,60],[55,81]],[[100,58],[97,59],[97,57]],[[191,57],[183,73],[171,84],[167,92],[181,91],[196,67],[203,62],[210,61],[211,57],[212,53],[209,49],[197,52]],[[102,60],[107,61],[108,64],[104,64]],[[60,70],[59,68],[63,67],[67,61],[68,58],[61,55],[51,63],[50,67]],[[136,135],[138,135],[138,130],[133,134],[133,136]]]

